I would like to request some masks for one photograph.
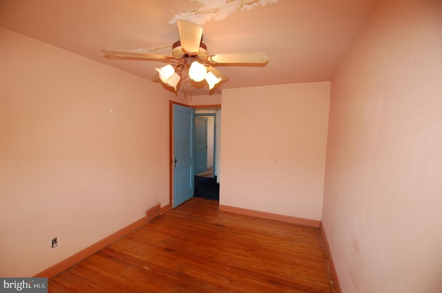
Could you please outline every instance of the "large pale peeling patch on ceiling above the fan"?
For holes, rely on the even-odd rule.
[[[175,17],[169,21],[173,24],[177,19],[184,19],[204,25],[206,21],[214,19],[220,21],[228,17],[232,12],[252,10],[258,6],[276,3],[279,0],[195,0],[200,5],[199,8],[188,12],[175,14]]]

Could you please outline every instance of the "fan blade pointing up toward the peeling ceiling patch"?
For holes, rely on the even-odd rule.
[[[182,50],[189,55],[196,55],[200,50],[202,27],[192,21],[177,20],[178,34]]]

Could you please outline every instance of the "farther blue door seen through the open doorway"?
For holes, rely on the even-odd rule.
[[[195,117],[195,174],[207,170],[207,118]]]

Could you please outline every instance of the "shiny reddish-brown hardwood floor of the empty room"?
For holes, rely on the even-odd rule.
[[[193,198],[49,280],[48,292],[334,292],[319,230]]]

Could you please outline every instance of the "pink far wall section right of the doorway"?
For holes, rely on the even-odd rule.
[[[320,220],[329,89],[223,90],[221,205]]]

